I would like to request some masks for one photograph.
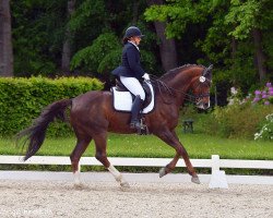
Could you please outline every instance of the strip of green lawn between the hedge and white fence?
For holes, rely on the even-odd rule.
[[[179,133],[180,142],[185,145],[190,158],[211,158],[219,155],[228,159],[266,159],[273,160],[272,142],[254,142],[247,140],[227,140],[204,134]],[[69,156],[75,145],[75,138],[46,138],[37,155]],[[14,142],[0,138],[1,155],[20,155]],[[171,147],[157,137],[138,135],[109,134],[109,157],[174,157]],[[94,156],[94,142],[91,143],[84,156]]]

